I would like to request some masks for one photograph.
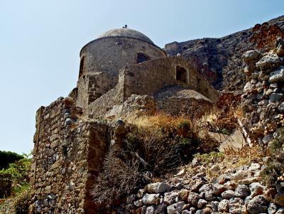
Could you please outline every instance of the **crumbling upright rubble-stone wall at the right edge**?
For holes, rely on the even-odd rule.
[[[284,124],[284,40],[278,38],[275,49],[261,54],[249,50],[243,55],[246,85],[242,95],[245,119],[253,139],[266,147],[277,137]]]

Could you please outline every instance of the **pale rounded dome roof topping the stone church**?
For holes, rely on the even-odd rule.
[[[138,38],[140,40],[154,44],[153,41],[151,41],[151,39],[145,36],[143,33],[140,33],[130,28],[116,28],[103,33],[101,36],[99,36],[99,38],[104,38],[108,36]]]

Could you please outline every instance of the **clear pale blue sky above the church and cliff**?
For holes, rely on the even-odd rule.
[[[35,112],[76,85],[80,48],[126,23],[166,43],[222,37],[284,15],[283,0],[0,0],[0,150],[33,149]]]

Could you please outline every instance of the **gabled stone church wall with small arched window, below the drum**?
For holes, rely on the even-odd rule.
[[[176,80],[176,68],[180,66],[187,70],[188,80]],[[188,89],[196,90],[205,97],[217,102],[219,93],[196,73],[181,57],[168,57],[150,60],[137,65],[127,66],[119,73],[120,92],[126,100],[131,95],[153,96],[168,85],[184,85]]]

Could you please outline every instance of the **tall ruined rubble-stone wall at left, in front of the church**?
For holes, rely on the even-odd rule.
[[[62,97],[38,109],[30,176],[34,213],[98,213],[89,188],[102,169],[109,127],[79,117]]]

